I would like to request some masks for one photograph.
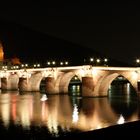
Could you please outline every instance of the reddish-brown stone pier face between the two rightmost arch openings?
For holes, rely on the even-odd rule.
[[[82,96],[93,96],[93,77],[82,77]]]

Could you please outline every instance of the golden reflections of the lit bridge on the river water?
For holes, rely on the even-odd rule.
[[[1,93],[0,122],[5,128],[10,124],[28,130],[45,126],[50,135],[59,136],[62,131],[89,131],[140,119],[139,103],[130,94],[114,98],[47,95],[41,101],[42,96],[40,92]]]

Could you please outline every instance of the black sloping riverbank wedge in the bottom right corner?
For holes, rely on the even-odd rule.
[[[140,135],[140,121],[129,122],[121,125],[114,125],[94,131],[76,133],[64,136],[60,139],[66,140],[112,140],[122,138],[138,138]]]

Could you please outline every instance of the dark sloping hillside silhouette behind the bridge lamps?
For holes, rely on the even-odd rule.
[[[16,56],[23,63],[68,60],[77,65],[83,64],[85,58],[109,58],[88,47],[4,20],[0,21],[0,40],[4,46],[5,58]],[[109,65],[127,66],[125,63],[109,59]]]

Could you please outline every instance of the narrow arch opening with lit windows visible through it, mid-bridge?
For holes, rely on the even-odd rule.
[[[78,76],[74,75],[68,85],[68,94],[70,96],[81,96],[81,85],[81,80],[78,78]]]

